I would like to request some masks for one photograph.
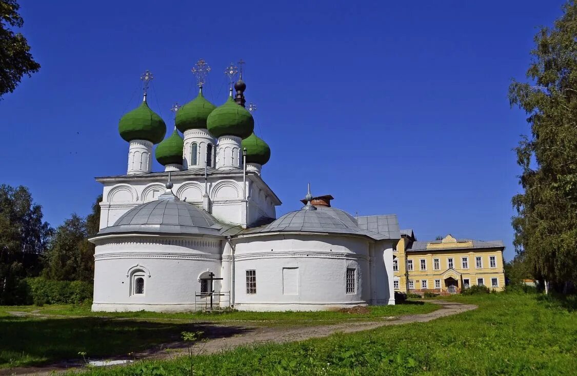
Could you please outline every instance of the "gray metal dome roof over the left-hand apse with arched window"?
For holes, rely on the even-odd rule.
[[[185,201],[156,200],[128,210],[98,235],[126,232],[220,235],[223,227],[213,216]]]

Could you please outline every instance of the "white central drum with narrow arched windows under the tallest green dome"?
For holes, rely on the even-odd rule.
[[[193,144],[196,144],[196,155],[194,156]],[[207,149],[211,149],[210,156],[207,153]],[[207,165],[207,157],[209,161],[208,166],[214,167],[215,149],[216,140],[207,129],[186,130],[184,133],[184,149],[182,152],[182,159],[184,160],[183,167],[187,170],[204,168]]]

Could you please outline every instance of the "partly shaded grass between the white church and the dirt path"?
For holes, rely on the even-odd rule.
[[[376,319],[384,316],[427,313],[436,304],[402,304],[370,307],[368,314],[339,312],[240,312],[207,313],[92,313],[89,306],[52,305],[0,306],[0,369],[50,364],[78,359],[86,352],[92,359],[126,355],[160,344],[181,340],[181,332],[201,330],[213,338],[246,332],[243,325],[323,325],[343,321]],[[66,317],[14,317],[9,311],[58,314]],[[95,317],[106,315],[107,317]],[[74,317],[88,316],[88,317]],[[211,322],[222,322],[226,330],[215,330]],[[233,321],[235,320],[235,321]]]

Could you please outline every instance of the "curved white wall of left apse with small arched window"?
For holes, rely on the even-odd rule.
[[[198,277],[220,277],[222,240],[120,237],[100,239],[95,251],[93,311],[191,311]],[[131,294],[131,274],[143,270],[144,294]],[[215,281],[215,291],[221,289]]]

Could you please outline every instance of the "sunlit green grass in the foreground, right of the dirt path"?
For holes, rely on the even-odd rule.
[[[194,375],[568,375],[577,369],[575,298],[500,293],[452,296],[477,310],[192,358]],[[93,369],[91,375],[181,375],[190,359]]]

